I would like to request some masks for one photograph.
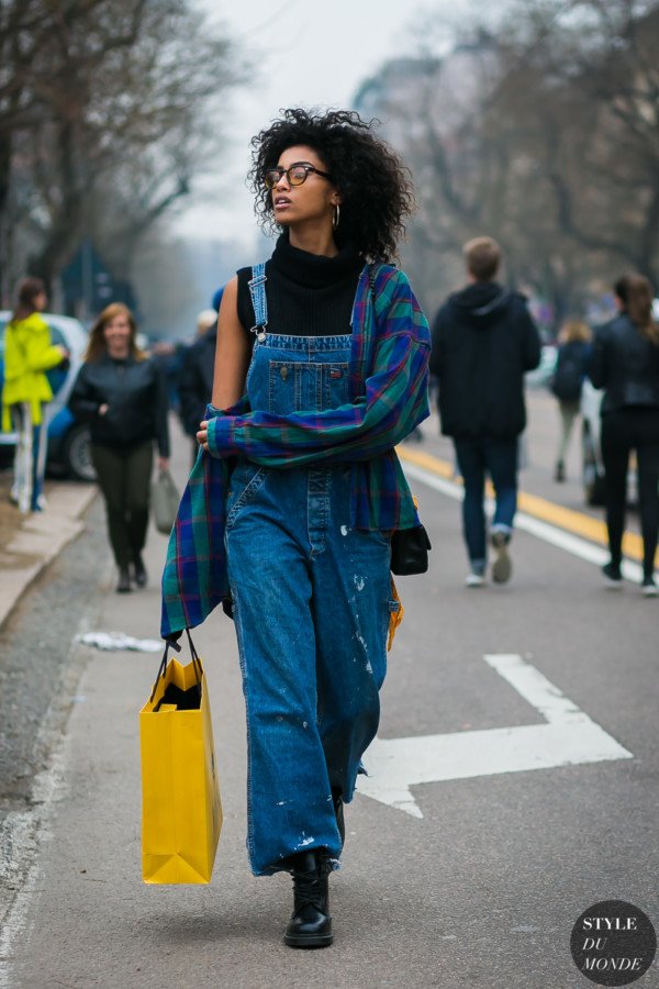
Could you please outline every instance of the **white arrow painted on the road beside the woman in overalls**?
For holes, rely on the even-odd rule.
[[[483,658],[546,724],[376,738],[364,757],[369,775],[359,777],[359,793],[423,818],[410,792],[418,784],[634,758],[522,656]]]

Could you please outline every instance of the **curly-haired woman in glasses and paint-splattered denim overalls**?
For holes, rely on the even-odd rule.
[[[227,285],[199,442],[234,457],[225,546],[255,875],[288,870],[292,947],[332,943],[328,873],[373,740],[391,534],[418,524],[394,446],[428,413],[429,333],[388,264],[407,174],[356,113],[287,110],[253,141],[271,258]],[[224,410],[224,411],[219,411]]]

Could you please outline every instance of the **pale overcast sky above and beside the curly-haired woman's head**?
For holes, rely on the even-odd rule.
[[[456,19],[473,0],[197,0],[256,54],[259,81],[231,98],[222,171],[198,184],[177,220],[192,237],[252,242],[255,218],[245,188],[253,134],[294,105],[348,107],[359,84],[388,58],[418,51],[418,23]],[[425,15],[425,16],[424,16]],[[212,67],[209,66],[209,71]]]

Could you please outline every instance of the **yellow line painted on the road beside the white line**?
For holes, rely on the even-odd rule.
[[[415,464],[417,467],[422,467],[424,470],[437,474],[439,477],[448,480],[455,480],[458,485],[462,484],[462,479],[454,475],[453,465],[448,460],[442,460],[439,457],[434,457],[432,454],[424,453],[421,449],[410,449],[407,446],[399,446],[396,452],[403,462]],[[490,496],[493,493],[491,486],[488,486],[488,493]],[[608,545],[604,522],[593,519],[591,515],[585,515],[583,512],[563,508],[560,504],[548,501],[546,498],[539,498],[537,494],[529,494],[526,491],[517,493],[517,508],[534,519],[548,522],[550,525],[556,525],[558,529],[562,529],[573,535],[582,536],[582,538],[589,540],[591,543],[599,543],[601,546]],[[643,540],[637,533],[625,532],[623,536],[623,553],[629,559],[643,560]],[[657,559],[659,562],[659,553],[657,553]]]

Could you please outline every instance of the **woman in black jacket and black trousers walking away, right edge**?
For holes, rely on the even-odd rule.
[[[602,459],[611,560],[604,577],[622,586],[629,452],[636,449],[643,533],[643,592],[657,596],[655,554],[659,531],[659,325],[652,318],[652,289],[643,275],[615,285],[618,315],[595,333],[590,378],[604,388]]]

